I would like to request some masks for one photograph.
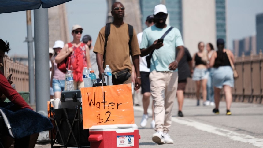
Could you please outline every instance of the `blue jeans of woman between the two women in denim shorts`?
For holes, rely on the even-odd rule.
[[[209,72],[209,77],[207,79],[207,86],[206,86],[206,90],[207,90],[206,100],[209,100],[210,102],[215,102],[214,101],[214,87],[213,87],[213,81],[212,81],[214,68],[209,68],[208,72]]]

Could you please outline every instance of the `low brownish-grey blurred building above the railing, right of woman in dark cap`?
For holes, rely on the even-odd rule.
[[[249,56],[250,54],[257,54],[256,36],[249,36],[244,39],[234,40],[233,49],[236,57],[241,57],[243,54]]]

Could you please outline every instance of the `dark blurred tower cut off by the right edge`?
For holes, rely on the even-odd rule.
[[[256,16],[257,54],[263,49],[263,13]]]

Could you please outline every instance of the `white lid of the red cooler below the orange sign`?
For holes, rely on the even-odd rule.
[[[136,124],[111,124],[111,125],[94,125],[90,128],[90,131],[115,131],[116,129],[138,129]]]

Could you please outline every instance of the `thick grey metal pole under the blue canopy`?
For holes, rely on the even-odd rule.
[[[47,117],[50,100],[48,9],[34,10],[36,112]]]

